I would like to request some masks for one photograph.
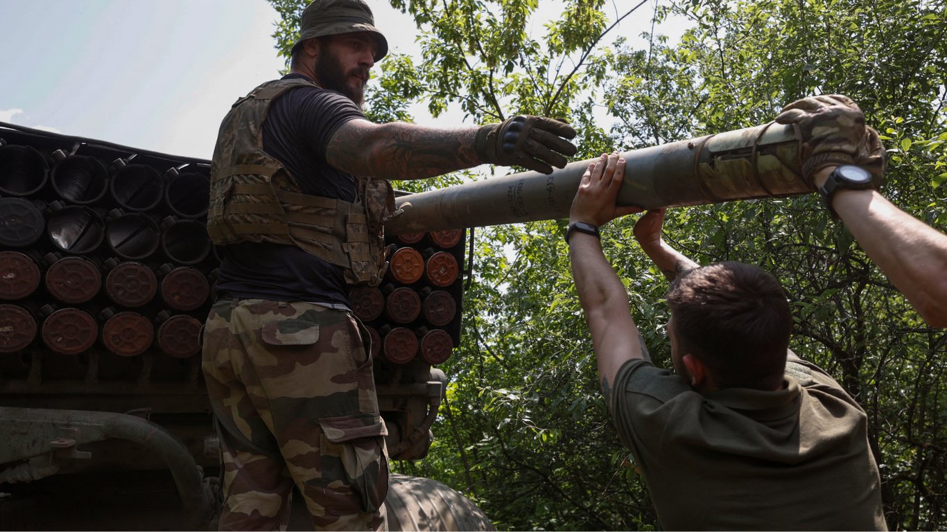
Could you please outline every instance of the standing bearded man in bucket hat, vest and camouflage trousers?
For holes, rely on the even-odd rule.
[[[361,104],[387,48],[363,0],[316,0],[290,73],[223,119],[207,215],[221,268],[203,346],[221,529],[285,529],[294,486],[316,529],[384,528],[386,429],[348,288],[384,275],[387,180],[484,163],[548,173],[576,151],[571,127],[537,116],[372,123]]]

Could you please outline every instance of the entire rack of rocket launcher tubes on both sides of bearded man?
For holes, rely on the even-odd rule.
[[[8,406],[85,416],[148,405],[206,462],[211,433],[195,437],[193,415],[209,411],[200,332],[220,263],[205,228],[209,170],[205,160],[0,123],[0,388]],[[361,321],[397,459],[430,445],[444,386],[431,364],[459,343],[463,284],[463,230],[407,233],[387,233],[396,246],[391,268],[367,303],[352,294],[353,310],[369,311]],[[20,416],[0,413],[0,424]]]

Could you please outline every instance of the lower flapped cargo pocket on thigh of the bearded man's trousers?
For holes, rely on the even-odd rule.
[[[323,432],[322,474],[327,491],[326,509],[333,514],[373,512],[384,505],[388,493],[388,459],[381,416],[355,414],[319,419]],[[328,475],[328,476],[327,476]],[[332,478],[336,477],[336,478]],[[329,488],[332,481],[346,483]],[[348,488],[350,496],[346,496]]]

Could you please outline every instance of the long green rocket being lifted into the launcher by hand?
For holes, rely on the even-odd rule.
[[[646,209],[813,192],[792,127],[776,123],[625,151],[620,205]],[[396,198],[392,233],[567,218],[588,159]]]

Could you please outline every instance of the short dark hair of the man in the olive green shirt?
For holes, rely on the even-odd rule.
[[[697,357],[720,387],[781,384],[793,316],[776,277],[719,262],[678,277],[668,304],[681,354]]]

